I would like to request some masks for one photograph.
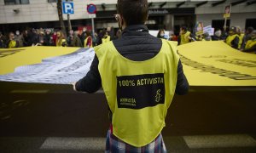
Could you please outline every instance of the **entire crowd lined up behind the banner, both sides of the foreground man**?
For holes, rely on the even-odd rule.
[[[69,31],[67,37],[60,30],[53,29],[32,29],[20,33],[20,31],[9,32],[8,36],[3,36],[0,32],[0,48],[19,48],[26,46],[57,46],[57,47],[84,47],[92,48],[104,42],[121,37],[121,31],[114,33],[113,27],[108,27],[95,32],[83,28],[83,31]],[[161,29],[157,37],[177,41],[182,45],[195,41],[224,41],[232,48],[241,51],[251,52],[256,50],[256,31],[253,27],[248,27],[246,31],[241,31],[239,26],[231,26],[226,31],[217,29],[213,36],[208,33],[196,35],[195,31],[189,31],[188,27],[182,26],[179,35],[173,31],[169,36],[165,36],[165,30]]]

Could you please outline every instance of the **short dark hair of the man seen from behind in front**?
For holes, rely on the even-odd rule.
[[[148,18],[148,0],[118,0],[117,12],[127,26],[144,24]]]

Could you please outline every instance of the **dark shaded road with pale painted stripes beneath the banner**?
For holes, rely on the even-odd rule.
[[[256,152],[256,88],[191,87],[175,96],[162,134],[168,152]],[[0,82],[0,152],[104,152],[102,90]]]

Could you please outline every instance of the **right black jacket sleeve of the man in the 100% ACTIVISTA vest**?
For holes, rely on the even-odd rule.
[[[177,65],[177,84],[176,84],[175,93],[179,95],[189,93],[189,82],[183,73],[183,65],[180,59]]]

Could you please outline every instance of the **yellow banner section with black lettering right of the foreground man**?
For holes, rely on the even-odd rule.
[[[178,46],[190,86],[256,86],[256,54],[221,41]]]

